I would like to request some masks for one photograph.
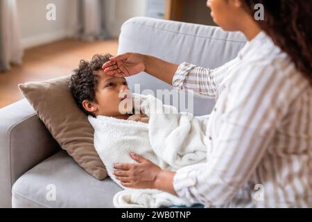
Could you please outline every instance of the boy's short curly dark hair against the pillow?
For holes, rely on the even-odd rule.
[[[112,55],[110,54],[105,54],[105,56],[96,54],[90,62],[80,60],[78,69],[73,70],[73,75],[71,75],[69,81],[69,88],[78,107],[87,115],[90,114],[94,117],[93,113],[83,108],[83,101],[87,100],[97,103],[96,89],[98,87],[99,77],[94,74],[94,71],[102,69],[103,64],[109,61],[111,57]]]

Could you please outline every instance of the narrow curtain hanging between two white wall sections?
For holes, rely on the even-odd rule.
[[[103,8],[107,5],[105,0],[79,1],[79,31],[78,37],[82,40],[94,41],[110,38],[105,27]]]

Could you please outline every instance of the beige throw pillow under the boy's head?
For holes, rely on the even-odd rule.
[[[68,87],[69,80],[70,76],[65,76],[24,83],[19,89],[58,144],[85,171],[103,180],[107,171],[94,148],[94,129],[76,105]]]

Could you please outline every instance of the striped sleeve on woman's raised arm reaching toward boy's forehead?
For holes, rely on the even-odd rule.
[[[227,76],[229,67],[236,65],[239,58],[227,62],[222,67],[209,69],[183,62],[173,76],[173,87],[193,94],[215,99],[218,87]]]

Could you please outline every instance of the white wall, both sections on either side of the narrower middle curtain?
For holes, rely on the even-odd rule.
[[[147,0],[104,0],[106,26],[118,37],[123,22],[144,16]],[[46,19],[46,5],[56,6],[56,21]],[[17,0],[21,43],[24,48],[71,37],[78,27],[78,0]]]

